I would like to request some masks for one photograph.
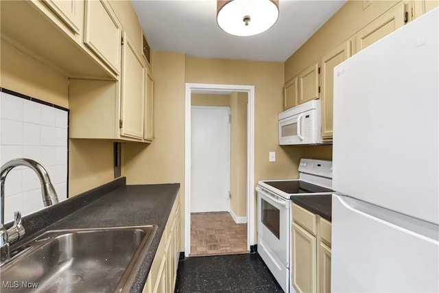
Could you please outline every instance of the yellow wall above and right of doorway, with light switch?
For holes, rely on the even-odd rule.
[[[254,179],[298,178],[303,148],[278,144],[278,114],[283,110],[283,63],[186,58],[186,82],[254,85]],[[268,153],[276,152],[276,162]],[[253,191],[254,192],[254,191]],[[254,192],[256,202],[256,193]],[[256,208],[256,207],[255,207]],[[254,223],[257,220],[254,210]],[[254,225],[254,243],[257,242]]]

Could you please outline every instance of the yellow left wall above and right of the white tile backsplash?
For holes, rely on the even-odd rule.
[[[67,76],[1,42],[0,86],[69,108]],[[113,179],[112,142],[69,143],[69,196],[75,196]]]

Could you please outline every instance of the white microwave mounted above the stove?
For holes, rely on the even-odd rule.
[[[320,99],[313,99],[279,114],[280,145],[316,145],[322,143]]]

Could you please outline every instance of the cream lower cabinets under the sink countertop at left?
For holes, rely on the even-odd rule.
[[[146,279],[143,293],[174,292],[180,255],[180,199],[176,198]]]

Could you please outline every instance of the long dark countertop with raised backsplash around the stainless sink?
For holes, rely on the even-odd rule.
[[[23,217],[26,235],[14,246],[54,229],[157,225],[150,248],[130,288],[130,292],[142,292],[179,189],[179,183],[126,185],[126,178],[119,178]]]

